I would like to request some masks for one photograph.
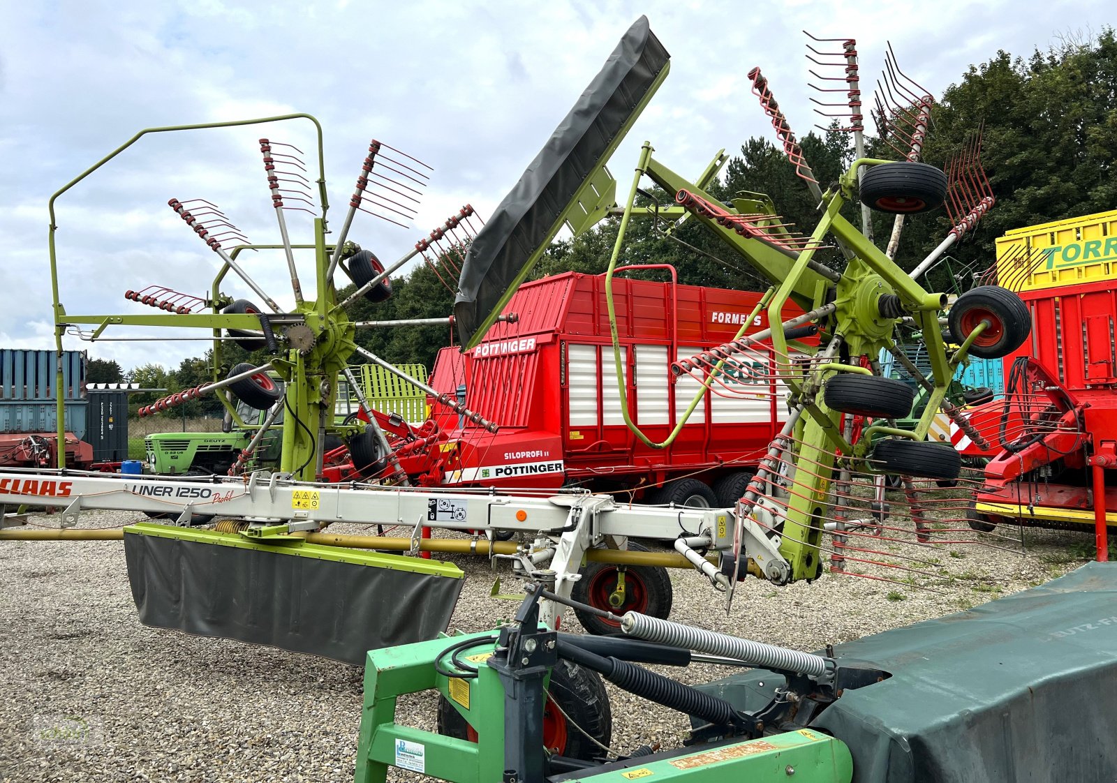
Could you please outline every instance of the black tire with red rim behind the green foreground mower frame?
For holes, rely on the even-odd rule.
[[[560,658],[551,671],[547,696],[550,698],[543,715],[544,744],[551,742],[557,745],[555,739],[564,736],[562,747],[557,748],[558,755],[583,761],[600,757],[603,751],[576,728],[569,726],[562,713],[554,709],[551,701],[557,704],[562,712],[586,734],[602,745],[609,745],[613,738],[613,716],[609,706],[609,694],[601,677],[595,671]],[[503,724],[494,724],[491,720],[486,723],[484,716],[478,715],[477,720],[488,731],[504,731]],[[456,739],[477,741],[477,734],[471,731],[469,723],[441,695],[438,697],[438,733]]]

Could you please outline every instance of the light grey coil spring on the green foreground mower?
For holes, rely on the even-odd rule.
[[[736,658],[763,669],[781,669],[810,677],[822,677],[833,668],[832,661],[811,652],[789,650],[761,641],[738,639],[727,633],[690,628],[639,612],[626,612],[624,617],[621,618],[621,630],[639,639],[670,644],[671,647],[685,647],[688,650],[726,658]]]

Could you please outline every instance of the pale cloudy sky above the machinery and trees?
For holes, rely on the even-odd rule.
[[[313,114],[325,134],[334,228],[370,139],[422,159],[435,173],[414,228],[362,216],[351,235],[391,260],[466,202],[487,217],[641,13],[671,54],[671,75],[613,157],[611,170],[626,183],[646,139],[665,163],[696,174],[722,147],[732,153],[748,136],[772,137],[745,78],[753,66],[805,135],[817,117],[808,103],[804,28],[856,37],[866,77],[879,73],[890,40],[905,70],[937,96],[997,49],[1027,56],[1060,35],[1097,32],[1117,20],[1117,7],[1090,0],[0,0],[0,346],[52,347],[47,200],[136,131]],[[124,290],[208,289],[217,257],[166,207],[172,197],[206,198],[252,241],[277,241],[260,136],[313,149],[305,122],[161,134],[64,195],[58,250],[67,311],[153,313],[126,302]],[[309,216],[288,220],[294,240],[309,241]],[[260,254],[248,266],[280,304],[290,302],[280,256]],[[313,280],[304,287],[313,290]],[[231,279],[225,290],[249,294]],[[207,347],[66,343],[125,367],[173,367]]]

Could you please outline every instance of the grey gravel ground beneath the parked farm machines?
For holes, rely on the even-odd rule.
[[[141,518],[103,512],[82,525]],[[1039,584],[1083,562],[1085,539],[1030,531],[1023,552],[1019,542],[1014,552],[944,548],[936,567],[953,577],[941,581],[941,593],[830,574],[785,588],[747,580],[728,615],[697,574],[674,571],[672,619],[815,650]],[[487,561],[455,562],[467,579],[451,628],[484,630],[512,613],[514,603],[489,598]],[[506,579],[503,589],[516,584]],[[361,669],[141,626],[118,542],[0,543],[0,651],[3,783],[352,780]],[[670,672],[690,682],[729,674],[709,666]],[[610,697],[614,747],[671,746],[687,728],[685,717],[611,686]],[[433,694],[401,700],[400,713],[401,722],[433,729]],[[73,744],[52,738],[60,729],[76,736]],[[393,771],[389,780],[429,779]]]

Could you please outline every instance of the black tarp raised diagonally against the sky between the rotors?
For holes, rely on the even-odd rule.
[[[601,71],[469,246],[454,315],[462,348],[527,274],[582,183],[639,106],[669,55],[647,17],[629,28]]]

